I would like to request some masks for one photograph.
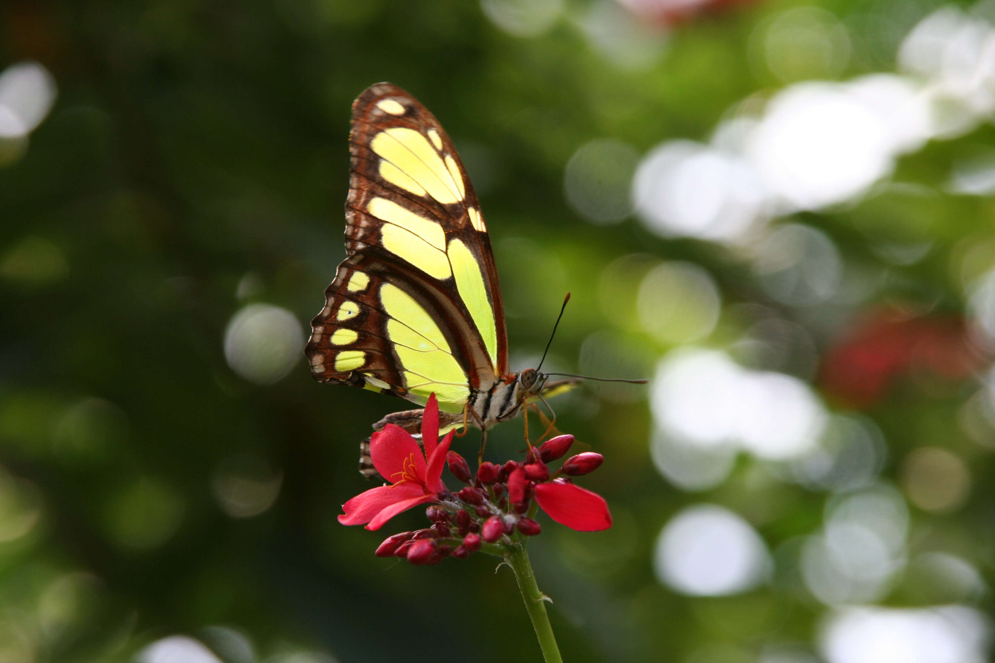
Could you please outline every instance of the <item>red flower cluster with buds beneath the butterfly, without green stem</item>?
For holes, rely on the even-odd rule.
[[[419,504],[431,503],[426,515],[432,526],[396,534],[385,540],[376,555],[400,557],[416,565],[438,564],[452,555],[463,559],[481,550],[484,543],[508,545],[512,538],[541,532],[528,516],[532,501],[555,522],[580,532],[612,526],[603,497],[573,484],[571,477],[597,469],[600,453],[579,453],[567,458],[558,470],[547,463],[566,455],[573,435],[559,435],[531,447],[524,462],[503,465],[483,463],[474,475],[460,454],[449,450],[453,432],[440,442],[439,406],[429,399],[422,419],[424,454],[418,441],[400,426],[388,423],[370,440],[370,456],[390,485],[372,488],[342,506],[343,525],[366,524],[377,530],[388,520]],[[442,482],[443,466],[466,486],[452,493]]]

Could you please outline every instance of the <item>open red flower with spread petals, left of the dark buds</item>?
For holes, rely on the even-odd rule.
[[[373,433],[370,440],[373,465],[391,485],[372,488],[353,497],[342,505],[345,513],[338,517],[338,522],[342,525],[366,523],[367,530],[378,530],[411,507],[438,502],[439,493],[446,490],[442,469],[446,465],[453,432],[450,431],[442,442],[438,441],[439,404],[433,394],[422,417],[424,453],[407,430],[393,423]]]

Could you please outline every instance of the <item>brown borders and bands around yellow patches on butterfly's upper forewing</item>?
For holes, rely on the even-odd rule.
[[[383,102],[399,104],[394,106],[403,109],[400,114],[388,112],[380,105]],[[373,152],[371,141],[377,133],[391,127],[405,127],[427,135],[434,131],[442,143],[441,152],[451,156],[456,162],[462,178],[464,196],[456,203],[442,203],[428,195],[418,195],[398,187],[384,179],[379,172],[381,157]],[[436,219],[443,227],[447,239],[453,235],[459,237],[471,249],[483,265],[485,285],[494,309],[497,327],[497,358],[492,358],[497,364],[497,377],[508,372],[507,333],[504,328],[504,307],[501,301],[500,286],[497,280],[497,265],[491,239],[486,230],[478,230],[471,219],[470,210],[479,215],[477,226],[485,229],[483,215],[480,214],[480,204],[474,192],[470,178],[467,176],[463,161],[453,145],[449,134],[435,116],[423,106],[414,96],[392,83],[375,83],[364,90],[352,105],[352,131],[349,136],[349,154],[351,173],[349,178],[349,195],[345,203],[345,247],[349,255],[363,251],[366,247],[378,244],[379,227],[375,218],[363,210],[372,198],[384,197],[397,200],[414,209],[424,211],[425,215]],[[402,201],[403,199],[403,201]],[[426,278],[430,278],[426,276]],[[482,334],[477,329],[470,312],[463,305],[456,285],[439,281],[451,293],[450,299],[459,303],[460,313],[466,324],[476,333],[477,340],[483,347]]]

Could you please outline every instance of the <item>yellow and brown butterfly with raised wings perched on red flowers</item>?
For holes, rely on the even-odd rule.
[[[304,350],[319,382],[424,406],[444,426],[486,431],[527,404],[565,391],[536,369],[511,372],[497,266],[487,225],[445,129],[391,83],[352,104],[345,249]],[[373,425],[421,427],[422,410]],[[368,463],[368,440],[360,471]]]

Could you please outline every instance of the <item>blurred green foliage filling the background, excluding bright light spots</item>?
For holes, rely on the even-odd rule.
[[[59,94],[28,142],[0,154],[0,660],[127,661],[176,633],[226,663],[289,662],[295,651],[343,663],[538,660],[495,560],[411,568],[373,557],[379,534],[335,521],[368,487],[357,442],[404,404],[317,385],[302,361],[274,384],[251,384],[226,362],[226,326],[250,303],[288,309],[305,329],[320,309],[344,256],[350,103],[390,81],[440,118],[478,185],[516,368],[541,353],[569,290],[552,364],[576,369],[582,344],[602,343],[626,348],[602,358],[602,375],[652,376],[690,334],[679,325],[668,340],[637,313],[640,283],[662,259],[695,263],[717,284],[723,307],[706,343],[735,343],[749,306],[762,305],[823,353],[857,306],[791,310],[738,249],[663,239],[634,217],[589,224],[562,183],[589,140],[641,154],[704,140],[729,108],[772,93],[784,79],[756,64],[756,34],[796,4],[723,5],[668,28],[666,46],[652,36],[663,28],[649,28],[659,55],[627,69],[585,37],[580,0],[535,37],[509,35],[480,3],[458,0],[4,3],[3,64],[42,63]],[[820,6],[852,36],[843,80],[893,70],[901,37],[935,5]],[[791,77],[811,78],[796,64]],[[830,237],[848,269],[880,274],[865,303],[963,311],[964,273],[995,257],[992,209],[942,186],[992,132],[901,159],[893,179],[915,187],[793,221]],[[908,264],[875,250],[915,243],[931,249]],[[678,309],[691,316],[681,324],[699,324],[697,301]],[[915,447],[965,459],[966,506],[913,511],[910,540],[991,579],[995,447],[988,428],[977,424],[972,439],[959,422],[972,385],[902,381],[868,415],[889,445],[888,482],[901,481]],[[724,483],[684,492],[651,459],[645,390],[602,399],[601,389],[565,398],[558,424],[605,454],[584,485],[608,499],[615,527],[579,534],[545,521],[531,546],[564,658],[738,663],[772,643],[811,648],[826,608],[800,580],[798,549],[823,522],[827,493],[746,454]],[[519,425],[496,431],[496,459],[518,450]],[[769,582],[690,597],[657,579],[658,533],[697,501],[732,509],[764,537]],[[405,514],[384,533],[422,520]],[[961,600],[916,578],[885,600]]]

